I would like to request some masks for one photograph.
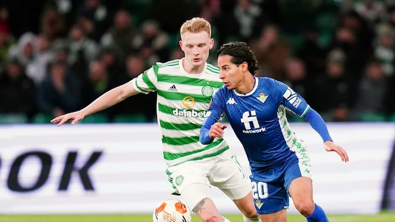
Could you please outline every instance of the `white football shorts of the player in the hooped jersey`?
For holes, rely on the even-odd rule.
[[[221,189],[232,200],[241,199],[251,192],[249,177],[243,174],[235,154],[229,150],[214,157],[169,167],[167,174],[190,209],[203,198],[211,198],[211,185]]]

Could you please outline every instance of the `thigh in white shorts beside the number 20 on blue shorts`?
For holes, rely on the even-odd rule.
[[[216,159],[209,172],[209,182],[221,189],[232,200],[245,197],[251,192],[251,184],[235,155],[222,155]]]

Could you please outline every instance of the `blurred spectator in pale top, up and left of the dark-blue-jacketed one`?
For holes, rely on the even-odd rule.
[[[40,34],[34,42],[34,57],[26,67],[26,74],[38,86],[47,74],[47,66],[55,57],[48,38]]]

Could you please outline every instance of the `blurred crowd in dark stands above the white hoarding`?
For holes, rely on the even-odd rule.
[[[395,0],[1,1],[0,116],[47,122],[182,58],[179,28],[195,16],[212,25],[208,62],[245,41],[258,76],[288,84],[326,121],[395,121]],[[151,122],[155,112],[150,93],[98,114]]]

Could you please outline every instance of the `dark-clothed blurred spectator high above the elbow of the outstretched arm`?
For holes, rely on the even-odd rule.
[[[124,61],[129,53],[136,51],[133,39],[138,33],[130,13],[121,9],[114,16],[114,26],[101,37],[100,43],[102,47],[114,49],[116,56]]]

